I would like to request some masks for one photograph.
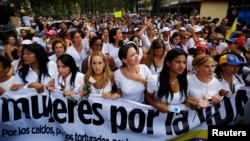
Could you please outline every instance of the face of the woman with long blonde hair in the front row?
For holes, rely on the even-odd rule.
[[[100,56],[93,56],[91,67],[95,74],[102,74],[104,71],[105,63],[103,61],[103,58]]]

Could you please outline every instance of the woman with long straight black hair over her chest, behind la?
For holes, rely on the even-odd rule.
[[[187,97],[187,54],[182,49],[171,49],[163,63],[162,71],[152,75],[147,83],[147,102],[159,111],[173,112],[169,105],[178,105],[185,110],[183,104]]]

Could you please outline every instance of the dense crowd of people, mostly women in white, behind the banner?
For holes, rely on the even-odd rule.
[[[41,20],[41,19],[40,19]],[[0,93],[35,88],[100,94],[161,112],[215,105],[250,85],[250,29],[228,19],[164,13],[81,17],[8,36],[0,56]],[[91,81],[91,79],[95,81]],[[90,84],[90,92],[84,86]]]

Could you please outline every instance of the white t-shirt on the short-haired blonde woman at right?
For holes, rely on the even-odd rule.
[[[203,99],[205,94],[214,96],[219,94],[222,86],[216,77],[213,77],[209,83],[201,82],[196,74],[188,75],[188,96],[195,97],[198,99]]]

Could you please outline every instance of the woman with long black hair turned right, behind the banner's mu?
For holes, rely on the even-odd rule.
[[[49,61],[41,45],[25,45],[22,50],[22,67],[15,74],[11,90],[35,88],[38,93],[42,93],[44,86],[54,77],[56,72],[56,64]]]

